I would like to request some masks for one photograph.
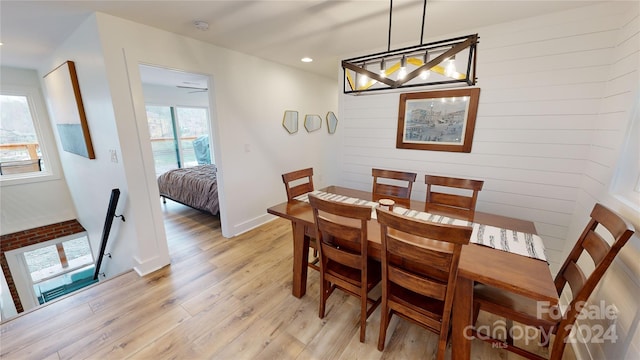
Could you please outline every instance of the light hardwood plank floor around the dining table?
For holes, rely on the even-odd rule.
[[[277,219],[232,239],[219,218],[167,201],[171,265],[127,272],[0,327],[2,359],[429,359],[436,336],[380,311],[359,342],[359,305],[340,292],[318,318],[318,273],[291,295],[292,234]],[[485,319],[485,321],[492,321]],[[545,350],[543,350],[544,353]],[[517,359],[474,340],[475,359]],[[449,357],[449,354],[447,354]]]

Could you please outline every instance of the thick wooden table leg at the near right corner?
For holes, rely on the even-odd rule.
[[[458,276],[453,299],[451,358],[469,359],[473,325],[473,280]]]

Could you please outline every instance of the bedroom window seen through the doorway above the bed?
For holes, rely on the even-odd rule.
[[[147,106],[156,173],[211,164],[206,108]]]

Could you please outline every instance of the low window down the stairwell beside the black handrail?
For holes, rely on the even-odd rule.
[[[56,239],[22,256],[40,304],[94,282],[94,260],[85,235]]]

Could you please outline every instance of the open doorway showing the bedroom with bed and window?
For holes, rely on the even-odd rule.
[[[186,172],[206,172],[217,179],[213,126],[215,111],[210,105],[209,76],[151,65],[138,66],[156,178],[168,171],[180,169],[180,176]],[[185,198],[194,198],[189,195],[190,191],[180,189],[182,190],[176,191],[186,194]],[[217,204],[217,185],[215,193]],[[160,194],[163,197],[165,195],[162,189]],[[214,198],[210,193],[207,196]],[[214,216],[194,210],[194,204],[185,201],[182,195],[167,196],[166,199],[166,202],[162,201],[161,211],[168,236],[172,230],[168,228],[171,226],[167,221],[175,216],[193,217],[198,214],[197,218],[206,217],[207,221],[220,227],[219,212]],[[197,207],[203,205],[201,202],[195,202],[195,209],[205,209]],[[171,243],[168,245],[171,253],[174,246]]]

